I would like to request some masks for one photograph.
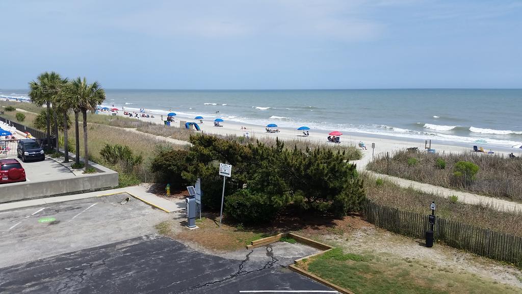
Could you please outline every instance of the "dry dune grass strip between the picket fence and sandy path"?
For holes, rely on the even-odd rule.
[[[491,203],[473,205],[458,201],[458,198],[445,198],[425,193],[413,188],[402,188],[388,179],[361,173],[364,179],[366,197],[379,205],[398,208],[428,215],[429,205],[435,201],[437,216],[480,228],[522,236],[522,212],[499,210]]]

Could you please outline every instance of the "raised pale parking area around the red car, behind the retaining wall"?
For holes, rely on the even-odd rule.
[[[3,157],[3,159],[16,159],[26,171],[27,182],[45,182],[54,179],[74,178],[75,175],[62,164],[46,158],[44,161],[22,162],[16,155]],[[21,182],[24,183],[24,182]],[[19,183],[9,183],[4,185],[17,185]],[[0,186],[0,187],[2,187]]]

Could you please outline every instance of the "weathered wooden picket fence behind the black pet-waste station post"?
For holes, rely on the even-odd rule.
[[[397,234],[424,239],[428,229],[428,216],[397,208],[378,205],[366,199],[363,208],[366,221]],[[434,227],[435,241],[486,256],[497,261],[522,266],[522,238],[437,218]]]

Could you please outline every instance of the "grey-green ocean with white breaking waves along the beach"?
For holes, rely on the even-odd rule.
[[[0,90],[0,97],[27,90]],[[256,125],[482,145],[522,143],[522,89],[177,91],[107,89],[105,106]],[[219,111],[219,112],[217,112]]]

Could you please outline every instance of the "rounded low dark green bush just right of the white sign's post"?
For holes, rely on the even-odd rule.
[[[242,189],[225,198],[224,213],[241,223],[266,223],[272,220],[277,209],[266,195]]]

